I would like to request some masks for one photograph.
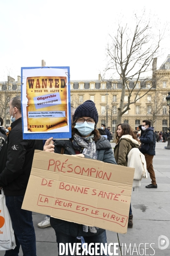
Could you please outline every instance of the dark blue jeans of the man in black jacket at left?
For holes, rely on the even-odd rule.
[[[32,212],[21,209],[24,195],[6,196],[5,198],[16,241],[14,250],[7,250],[5,256],[18,256],[20,245],[24,256],[36,256],[36,239]]]

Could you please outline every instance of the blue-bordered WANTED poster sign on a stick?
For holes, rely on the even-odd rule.
[[[69,68],[22,68],[23,138],[70,138]]]

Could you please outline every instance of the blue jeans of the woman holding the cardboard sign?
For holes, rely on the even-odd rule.
[[[60,255],[59,251],[59,243],[71,243],[73,247],[73,243],[76,243],[76,237],[71,236],[71,235],[65,235],[60,232],[55,232],[56,237],[57,237],[57,243],[58,243],[58,255]],[[101,234],[98,235],[92,235],[92,236],[84,236],[84,241],[87,243],[87,246],[89,246],[90,243],[102,243],[105,245],[107,243],[107,237],[106,237],[106,231],[102,232]],[[92,246],[91,248],[95,248],[95,245]],[[100,245],[98,245],[98,248],[100,248]],[[98,253],[100,253],[100,250],[98,250]],[[66,252],[63,254],[63,256],[66,255]],[[95,255],[95,254],[94,254]],[[104,255],[100,254],[100,255]],[[71,256],[70,251],[68,250],[68,256]]]

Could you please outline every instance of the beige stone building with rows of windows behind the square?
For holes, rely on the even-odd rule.
[[[166,96],[170,91],[170,55],[167,56],[161,68],[156,70],[156,88],[149,88],[152,86],[150,80],[139,80],[133,90],[132,100],[135,98],[139,88],[142,86],[136,103],[130,105],[130,110],[122,116],[122,123],[128,123],[133,129],[137,129],[142,120],[149,119],[152,121],[156,131],[166,131],[169,127],[169,107],[167,106]],[[128,86],[133,88],[135,83],[130,81]],[[78,107],[86,100],[95,102],[98,110],[99,121],[98,128],[101,124],[106,124],[111,127],[112,132],[115,131],[115,124],[117,118],[117,109],[120,103],[121,79],[106,81],[101,79],[101,75],[97,80],[71,80],[71,105]],[[8,98],[6,109],[1,112],[1,117],[4,119],[4,126],[10,126],[11,120],[9,116],[9,101],[12,97],[20,95],[21,93],[21,79],[17,77],[15,81],[12,77],[8,77],[8,82],[0,82],[0,101],[2,102],[5,95]],[[127,102],[128,89],[126,89],[124,103]],[[153,109],[158,105],[158,109],[153,113]]]

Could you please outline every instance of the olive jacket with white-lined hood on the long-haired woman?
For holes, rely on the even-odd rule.
[[[127,156],[132,148],[138,148],[139,142],[131,135],[123,135],[114,148],[114,156],[118,165],[127,166]]]

